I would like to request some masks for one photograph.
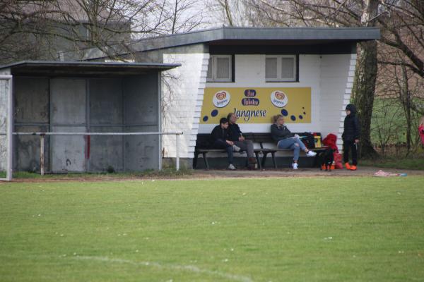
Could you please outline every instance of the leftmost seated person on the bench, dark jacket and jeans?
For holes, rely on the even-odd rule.
[[[211,133],[212,147],[215,149],[225,149],[228,154],[228,169],[235,170],[235,166],[232,164],[232,150],[235,152],[240,151],[240,147],[237,147],[234,142],[229,140],[228,136],[228,119],[221,118],[219,125],[213,128]]]

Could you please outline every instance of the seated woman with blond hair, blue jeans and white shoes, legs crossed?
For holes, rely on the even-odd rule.
[[[293,134],[284,125],[284,117],[281,115],[274,116],[274,123],[271,125],[271,137],[277,142],[278,149],[293,149],[293,169],[298,169],[298,159],[300,149],[305,151],[307,157],[314,157],[317,153],[307,149],[305,144],[300,141],[299,135]]]

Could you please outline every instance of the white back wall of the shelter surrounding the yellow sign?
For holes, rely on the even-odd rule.
[[[293,132],[320,132],[320,67],[319,55],[300,55],[299,82],[265,82],[265,55],[235,55],[235,82],[207,82],[206,87],[246,87],[246,89],[254,89],[255,87],[311,87],[311,123],[288,123],[288,128]],[[269,132],[271,116],[269,120],[269,124],[241,123],[240,129],[246,133]],[[211,133],[214,126],[201,124],[199,133]]]

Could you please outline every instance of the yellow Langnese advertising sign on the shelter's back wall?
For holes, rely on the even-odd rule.
[[[228,113],[237,115],[237,123],[272,123],[278,114],[286,123],[310,123],[311,88],[206,88],[200,123],[218,124]]]

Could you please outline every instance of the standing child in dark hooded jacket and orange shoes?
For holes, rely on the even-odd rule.
[[[343,139],[343,161],[346,169],[356,171],[358,166],[357,145],[359,142],[360,128],[358,117],[356,116],[356,107],[353,104],[346,106],[346,118],[344,121],[344,131],[341,135]],[[349,150],[352,151],[352,165],[349,164]]]

